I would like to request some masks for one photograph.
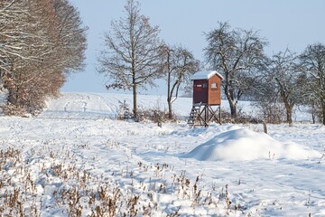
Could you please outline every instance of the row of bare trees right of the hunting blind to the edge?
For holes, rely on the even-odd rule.
[[[257,31],[231,29],[219,23],[206,34],[205,55],[210,66],[225,75],[224,94],[231,117],[237,118],[237,102],[244,97],[255,101],[267,122],[285,121],[292,126],[292,109],[310,108],[313,122],[325,125],[325,45],[308,45],[302,53],[286,48],[269,57],[267,41]]]

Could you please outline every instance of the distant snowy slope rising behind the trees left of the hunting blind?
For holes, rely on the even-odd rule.
[[[132,108],[133,96],[129,94],[95,94],[95,93],[65,93],[60,100],[51,100],[48,109],[42,117],[79,117],[79,118],[116,118],[119,105],[126,102]],[[164,96],[139,95],[140,108],[167,109]],[[182,98],[175,102],[175,112],[180,116],[188,116],[191,99]],[[60,112],[60,113],[58,113]]]

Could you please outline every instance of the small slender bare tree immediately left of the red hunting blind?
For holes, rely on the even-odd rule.
[[[181,84],[189,83],[190,75],[200,69],[200,61],[181,45],[163,48],[164,71],[167,74],[168,118],[172,119],[172,103],[178,98]]]

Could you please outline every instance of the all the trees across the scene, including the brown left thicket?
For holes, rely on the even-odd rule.
[[[0,2],[0,89],[7,91],[6,114],[36,114],[45,99],[59,94],[70,72],[83,69],[86,31],[68,0]],[[203,67],[184,45],[163,42],[159,33],[159,26],[141,14],[139,2],[127,0],[124,16],[111,22],[98,54],[97,70],[107,75],[107,89],[132,90],[135,119],[139,89],[166,80],[172,118],[172,103],[191,85],[191,74],[212,69],[224,76],[231,118],[238,116],[238,101],[250,99],[266,122],[281,122],[284,111],[292,125],[294,107],[305,105],[313,121],[325,125],[325,45],[268,56],[268,42],[258,31],[220,22],[204,33]]]

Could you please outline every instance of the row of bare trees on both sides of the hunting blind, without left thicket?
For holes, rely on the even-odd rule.
[[[182,45],[169,45],[159,38],[159,27],[149,24],[140,13],[140,4],[128,0],[125,16],[111,23],[106,47],[98,56],[98,71],[107,74],[107,89],[133,90],[134,117],[137,116],[138,87],[154,86],[154,80],[167,80],[167,102],[172,118],[172,102],[181,84],[202,70],[202,64]],[[286,48],[269,57],[268,42],[258,31],[234,29],[230,24],[205,33],[203,49],[209,69],[224,76],[223,95],[228,99],[231,118],[237,118],[240,99],[255,101],[266,122],[282,121],[292,125],[292,109],[308,106],[313,118],[325,125],[325,46],[308,45],[297,54]]]

